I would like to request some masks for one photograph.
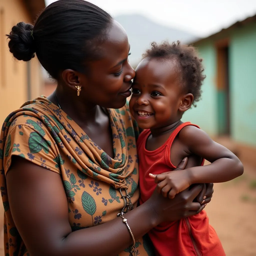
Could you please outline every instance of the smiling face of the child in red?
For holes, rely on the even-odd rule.
[[[155,129],[178,121],[185,93],[175,59],[145,58],[135,71],[129,105],[138,125]]]

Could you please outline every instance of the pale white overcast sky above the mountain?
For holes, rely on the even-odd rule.
[[[46,4],[55,2],[45,0]],[[204,37],[256,14],[256,0],[89,0],[113,16],[142,14]]]

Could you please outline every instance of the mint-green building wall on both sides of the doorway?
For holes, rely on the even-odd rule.
[[[243,25],[217,37],[229,38],[230,136],[239,143],[256,146],[256,24]],[[183,121],[198,124],[212,136],[218,135],[216,41],[195,44],[204,59],[206,79],[202,100],[183,116]]]

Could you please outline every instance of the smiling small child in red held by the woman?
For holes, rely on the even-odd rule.
[[[180,120],[200,99],[205,78],[201,61],[194,47],[179,41],[153,43],[136,68],[130,111],[145,129],[137,141],[141,203],[156,186],[163,196],[174,198],[191,184],[226,182],[243,173],[242,163],[232,152],[212,141],[197,125]],[[185,170],[170,172],[186,157]],[[204,159],[211,164],[202,166]],[[169,173],[161,174],[164,172]],[[162,223],[149,236],[157,255],[225,255],[205,211]]]

